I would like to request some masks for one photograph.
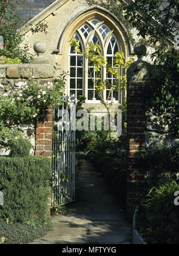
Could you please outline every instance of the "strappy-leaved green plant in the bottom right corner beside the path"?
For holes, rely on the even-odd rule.
[[[150,244],[178,244],[178,209],[174,205],[175,182],[166,182],[149,191],[140,206],[137,227]]]

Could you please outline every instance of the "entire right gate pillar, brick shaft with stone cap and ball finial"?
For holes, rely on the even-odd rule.
[[[135,207],[144,196],[146,173],[143,166],[135,160],[135,155],[145,152],[145,125],[146,111],[142,95],[142,87],[151,78],[151,66],[144,62],[142,56],[146,54],[146,46],[137,44],[134,53],[138,60],[127,71],[127,141],[128,141],[128,192],[127,192],[127,215],[132,220]]]

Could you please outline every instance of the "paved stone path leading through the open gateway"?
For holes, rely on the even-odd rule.
[[[132,243],[131,225],[122,207],[90,161],[83,161],[76,179],[76,202],[66,209],[67,214],[53,218],[53,230],[33,243]]]

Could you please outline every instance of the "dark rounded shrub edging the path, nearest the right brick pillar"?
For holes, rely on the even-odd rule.
[[[125,172],[120,173],[113,179],[110,190],[115,194],[120,205],[124,206],[126,204],[127,193],[127,174]]]

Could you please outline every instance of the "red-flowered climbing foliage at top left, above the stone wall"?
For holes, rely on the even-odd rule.
[[[19,30],[21,26],[20,17],[16,14],[16,7],[11,4],[10,0],[1,0],[0,2],[0,33],[4,38],[4,49],[0,50],[0,55],[18,58],[23,63],[29,63],[32,55],[28,53],[29,45],[24,43],[24,47],[20,47],[24,42],[24,37]],[[35,27],[31,26],[32,33],[47,33],[47,24],[39,23]]]

